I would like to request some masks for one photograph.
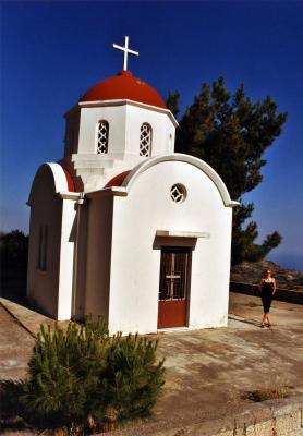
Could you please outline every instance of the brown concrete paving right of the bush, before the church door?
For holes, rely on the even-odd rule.
[[[162,335],[167,384],[157,420],[184,426],[230,415],[252,404],[245,398],[256,389],[303,393],[303,307],[272,305],[274,327],[262,329],[259,299],[231,293],[228,328]]]

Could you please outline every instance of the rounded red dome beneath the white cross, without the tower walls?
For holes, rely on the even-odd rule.
[[[84,94],[80,101],[102,101],[129,99],[166,109],[166,104],[157,90],[136,78],[130,71],[121,71],[117,75],[97,83]]]

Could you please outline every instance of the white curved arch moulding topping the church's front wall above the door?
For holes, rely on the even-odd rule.
[[[219,194],[222,198],[225,206],[234,207],[234,206],[239,205],[238,202],[234,202],[230,198],[229,192],[228,192],[227,186],[225,185],[222,179],[208,164],[206,164],[204,160],[201,160],[196,157],[193,157],[190,155],[184,155],[181,153],[173,153],[173,154],[167,155],[167,156],[150,157],[149,159],[138,164],[125,177],[121,186],[124,186],[126,189],[126,191],[130,191],[132,189],[133,183],[136,181],[136,179],[140,178],[140,175],[143,172],[145,172],[146,170],[148,170],[149,168],[154,167],[157,164],[166,162],[166,161],[182,161],[182,162],[186,162],[189,165],[193,165],[194,167],[196,167],[201,171],[203,171],[206,175],[208,175],[208,178],[213,181],[213,183],[216,185],[217,190],[219,191]]]

